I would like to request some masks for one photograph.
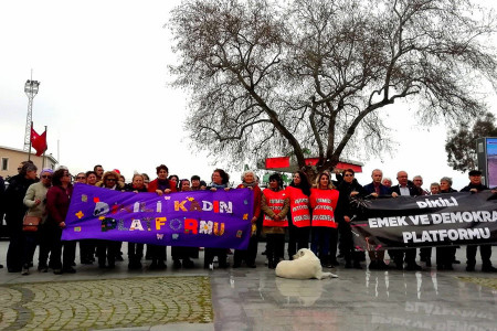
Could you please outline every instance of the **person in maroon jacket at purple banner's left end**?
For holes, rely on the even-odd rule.
[[[76,255],[76,242],[70,241],[63,243],[61,241],[72,195],[73,185],[71,184],[71,173],[67,169],[61,168],[53,173],[52,186],[46,192],[47,217],[44,224],[44,242],[49,245],[44,249],[50,250],[49,266],[52,266],[55,275],[76,273],[76,269],[73,268]],[[64,246],[63,254],[62,246]],[[46,257],[41,256],[40,259],[40,266],[45,266]]]

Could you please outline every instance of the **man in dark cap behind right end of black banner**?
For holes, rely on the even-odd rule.
[[[478,193],[484,190],[489,190],[486,185],[482,183],[482,171],[472,170],[469,171],[469,184],[465,186],[461,192],[473,192]],[[474,271],[476,265],[476,249],[478,245],[467,245],[466,246],[466,271]],[[497,268],[491,266],[491,245],[479,245],[479,255],[482,256],[482,271],[484,273],[495,273]]]

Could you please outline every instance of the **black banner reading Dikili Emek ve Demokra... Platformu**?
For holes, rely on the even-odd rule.
[[[355,245],[378,250],[497,243],[497,194],[451,193],[352,202]]]

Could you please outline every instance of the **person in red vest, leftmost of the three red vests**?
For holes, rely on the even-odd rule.
[[[266,235],[268,268],[274,269],[285,254],[285,228],[288,227],[289,201],[283,190],[279,173],[269,177],[269,188],[263,191],[261,210],[264,213],[263,233]]]

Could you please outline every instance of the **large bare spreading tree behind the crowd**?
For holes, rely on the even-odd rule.
[[[422,122],[479,116],[495,84],[491,11],[458,0],[186,1],[169,26],[200,149],[244,161],[304,151],[315,173],[342,152],[388,147],[379,110],[416,103]]]

